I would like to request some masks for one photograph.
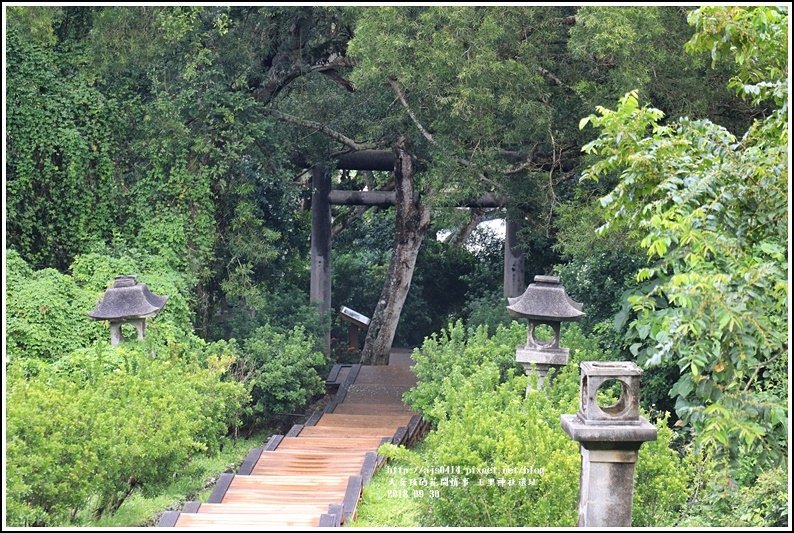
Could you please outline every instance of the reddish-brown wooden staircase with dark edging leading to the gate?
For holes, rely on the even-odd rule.
[[[361,490],[383,463],[378,447],[411,444],[426,429],[402,403],[416,384],[410,353],[388,366],[336,365],[325,409],[252,450],[237,474],[222,474],[207,503],[169,511],[160,527],[201,529],[334,527],[356,513]]]

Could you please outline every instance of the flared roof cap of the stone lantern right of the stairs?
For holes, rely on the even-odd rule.
[[[535,276],[524,294],[508,298],[507,310],[513,317],[565,322],[579,320],[585,314],[582,304],[574,302],[556,276]]]

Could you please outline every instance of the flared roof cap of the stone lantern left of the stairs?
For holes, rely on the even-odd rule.
[[[135,276],[117,276],[88,316],[95,320],[147,318],[160,312],[167,300],[153,294],[145,283],[137,283]]]

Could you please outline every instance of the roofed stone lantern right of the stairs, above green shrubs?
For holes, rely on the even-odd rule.
[[[508,298],[507,310],[513,318],[526,318],[529,323],[527,344],[516,349],[516,361],[521,363],[529,375],[534,366],[538,373],[538,388],[543,388],[543,379],[552,367],[568,364],[568,349],[560,346],[560,323],[579,320],[584,316],[582,304],[574,302],[555,276],[535,276],[535,282],[524,294]],[[550,340],[541,341],[535,336],[540,325],[551,327],[554,334]],[[529,393],[530,386],[527,386]]]

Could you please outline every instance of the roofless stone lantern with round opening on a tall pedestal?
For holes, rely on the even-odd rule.
[[[643,442],[656,440],[656,427],[640,416],[642,369],[631,362],[581,363],[579,413],[562,415],[562,429],[579,442],[580,527],[630,527],[634,465]],[[608,382],[621,386],[614,405],[601,406],[596,394]]]

